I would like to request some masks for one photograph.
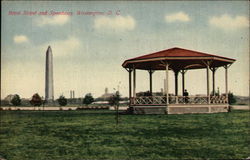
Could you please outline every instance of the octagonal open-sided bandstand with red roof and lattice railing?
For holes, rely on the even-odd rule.
[[[171,48],[125,60],[122,66],[129,73],[129,110],[133,114],[228,112],[228,68],[234,61],[235,59],[182,48]],[[215,73],[219,67],[225,68],[225,93],[216,95]],[[207,94],[184,96],[185,74],[188,70],[195,69],[206,69]],[[147,96],[136,94],[136,70],[145,70],[149,73],[150,94]],[[165,70],[165,92],[161,96],[156,96],[152,94],[152,75],[159,70]],[[169,94],[169,70],[172,70],[175,75],[174,95]],[[212,92],[209,88],[210,72],[212,73]],[[182,76],[182,95],[178,95],[179,73]]]

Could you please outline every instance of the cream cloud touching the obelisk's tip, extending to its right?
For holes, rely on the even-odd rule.
[[[42,45],[42,48],[48,48],[48,46],[51,46],[53,56],[67,56],[74,54],[77,49],[80,48],[81,42],[76,37],[68,37],[68,39],[65,40],[56,40],[56,41],[50,41],[44,45]]]

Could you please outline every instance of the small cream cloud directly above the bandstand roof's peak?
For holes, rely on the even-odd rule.
[[[189,15],[184,13],[184,12],[177,12],[177,13],[166,15],[165,20],[168,23],[172,23],[172,22],[188,22],[188,21],[190,21],[190,18],[189,18]]]

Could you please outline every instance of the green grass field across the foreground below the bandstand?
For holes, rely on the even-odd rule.
[[[243,159],[249,111],[121,115],[112,111],[1,111],[0,156],[23,159]]]

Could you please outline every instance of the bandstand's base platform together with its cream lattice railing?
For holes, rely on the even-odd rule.
[[[226,96],[208,97],[189,96],[185,102],[184,96],[170,97],[170,104],[166,105],[166,97],[149,96],[132,99],[130,109],[134,114],[185,114],[185,113],[217,113],[228,112],[229,105]]]

